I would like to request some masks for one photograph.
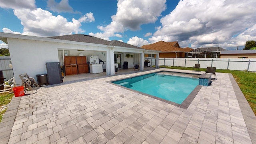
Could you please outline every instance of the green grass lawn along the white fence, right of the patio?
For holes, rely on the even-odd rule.
[[[174,66],[161,66],[161,68],[193,70],[193,68]],[[200,68],[200,71],[206,71],[206,68]],[[243,92],[246,100],[250,104],[252,111],[256,115],[256,72],[246,72],[237,70],[216,70],[216,72],[231,73],[233,75],[238,86]]]

